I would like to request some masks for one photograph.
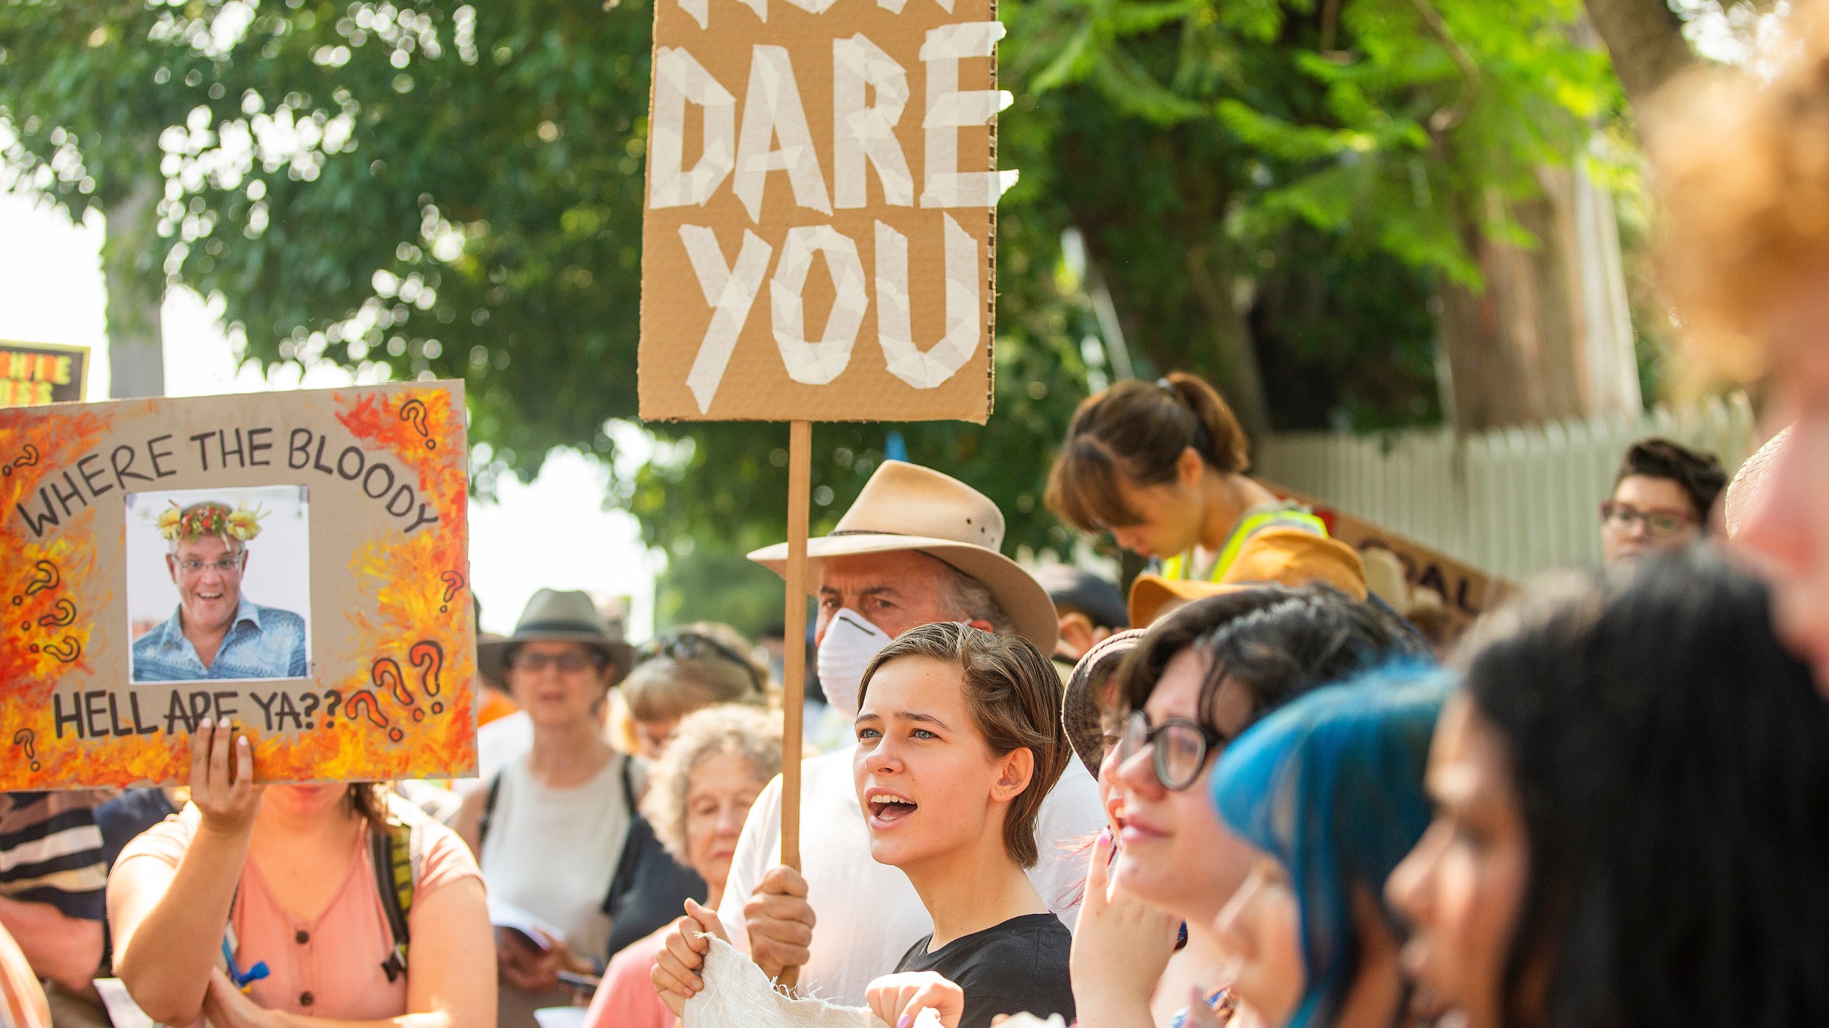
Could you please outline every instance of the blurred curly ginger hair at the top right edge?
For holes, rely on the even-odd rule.
[[[1714,377],[1761,375],[1767,318],[1829,269],[1829,5],[1785,42],[1772,79],[1695,70],[1644,117],[1659,285]]]

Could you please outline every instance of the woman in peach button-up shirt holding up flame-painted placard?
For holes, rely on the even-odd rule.
[[[134,840],[108,880],[134,1001],[161,1024],[490,1028],[494,944],[470,851],[450,829],[415,829],[402,975],[369,856],[384,818],[373,785],[254,787],[245,735],[227,721],[194,732],[190,805]],[[223,971],[225,937],[238,966],[271,971],[247,995]]]

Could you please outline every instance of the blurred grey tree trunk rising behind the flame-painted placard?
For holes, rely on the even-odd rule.
[[[106,209],[102,278],[108,285],[110,397],[165,395],[165,267],[159,254],[159,179],[144,179]]]

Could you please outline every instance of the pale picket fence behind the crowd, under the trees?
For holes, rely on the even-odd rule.
[[[1710,450],[1732,476],[1756,448],[1743,393],[1644,417],[1449,430],[1273,435],[1255,474],[1366,518],[1489,574],[1529,578],[1600,562],[1600,503],[1633,441]]]

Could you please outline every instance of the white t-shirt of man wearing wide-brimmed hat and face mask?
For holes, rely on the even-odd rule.
[[[812,904],[812,957],[799,971],[799,988],[845,1006],[865,1006],[872,979],[896,969],[902,955],[933,931],[927,907],[902,871],[871,858],[871,829],[863,823],[850,779],[856,743],[801,761],[801,876]],[[1035,821],[1041,860],[1030,882],[1066,927],[1079,913],[1090,849],[1083,843],[1105,827],[1099,787],[1068,759],[1066,772],[1043,801]],[[755,798],[743,823],[737,854],[717,909],[737,949],[748,953],[743,904],[770,867],[781,863],[781,777]]]

